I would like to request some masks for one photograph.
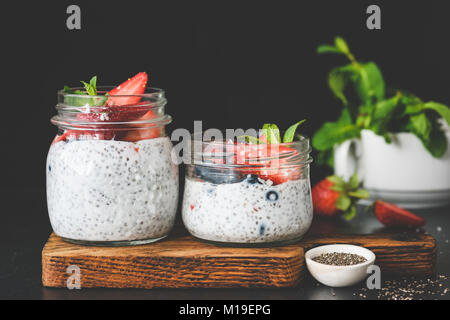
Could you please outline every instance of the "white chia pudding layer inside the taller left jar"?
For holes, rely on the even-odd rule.
[[[171,230],[178,167],[168,137],[58,142],[47,157],[54,232],[85,241],[157,239]]]

